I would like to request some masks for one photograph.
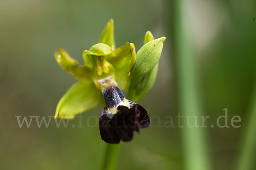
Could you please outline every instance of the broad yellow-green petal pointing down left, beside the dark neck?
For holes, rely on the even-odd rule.
[[[58,102],[55,119],[73,119],[99,104],[101,92],[93,82],[76,82]]]

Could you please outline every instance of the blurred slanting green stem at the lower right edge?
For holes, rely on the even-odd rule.
[[[256,87],[253,93],[253,99],[250,103],[250,115],[247,117],[247,128],[244,129],[244,136],[242,137],[243,144],[241,147],[241,154],[239,154],[239,165],[237,170],[252,170],[253,163],[255,163],[256,155]]]

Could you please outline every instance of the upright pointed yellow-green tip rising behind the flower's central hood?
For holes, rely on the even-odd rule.
[[[104,43],[109,46],[116,46],[115,39],[114,39],[114,21],[110,19],[105,26],[104,30],[102,31],[102,35],[99,38],[99,43]]]

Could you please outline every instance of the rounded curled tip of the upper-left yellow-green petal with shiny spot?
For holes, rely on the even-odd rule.
[[[70,69],[71,67],[76,67],[78,66],[78,62],[76,61],[76,59],[73,59],[72,57],[70,57],[70,55],[67,53],[67,51],[65,51],[62,48],[58,48],[55,53],[54,53],[54,57],[56,59],[56,61],[58,62],[58,64],[67,69]]]

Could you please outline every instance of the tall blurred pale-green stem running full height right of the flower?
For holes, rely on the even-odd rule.
[[[189,0],[173,1],[172,9],[175,10],[175,57],[177,66],[178,94],[180,98],[180,114],[182,116],[201,116],[200,91],[193,54],[187,7]],[[186,119],[185,119],[186,120]],[[183,125],[187,125],[186,122]],[[190,119],[190,124],[195,125],[195,119]],[[203,128],[181,129],[183,139],[183,154],[185,170],[210,170],[207,154],[206,133]]]

